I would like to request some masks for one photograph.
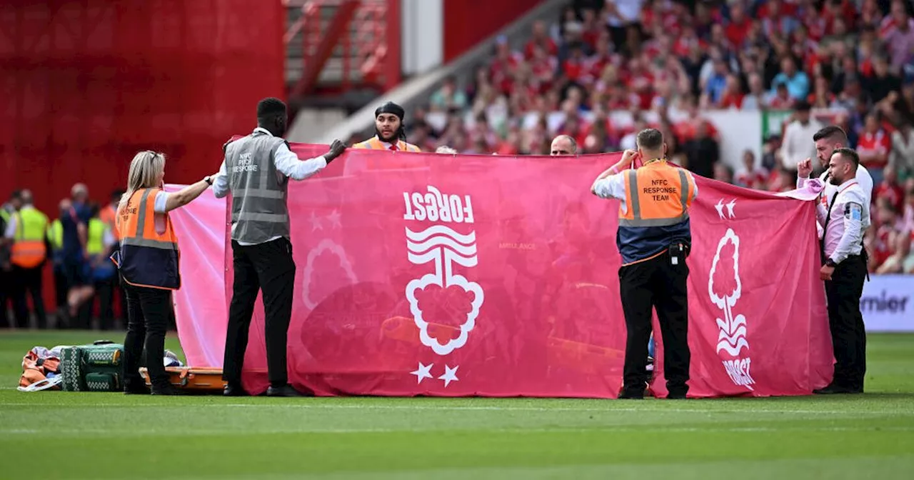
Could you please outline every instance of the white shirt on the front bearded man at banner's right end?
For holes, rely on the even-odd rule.
[[[841,263],[849,255],[859,255],[863,249],[865,225],[869,223],[869,206],[856,178],[847,180],[834,191],[837,192],[837,197],[832,193],[832,197],[827,198],[828,203],[831,203],[834,197],[831,213],[829,205],[820,201],[816,205],[815,216],[825,229],[825,256],[835,263]]]

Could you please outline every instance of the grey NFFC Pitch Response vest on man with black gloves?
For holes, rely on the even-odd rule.
[[[257,244],[289,238],[289,179],[274,162],[282,144],[286,141],[280,137],[254,132],[226,145],[232,240]]]

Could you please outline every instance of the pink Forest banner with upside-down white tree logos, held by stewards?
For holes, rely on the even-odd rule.
[[[303,157],[325,148],[292,144]],[[292,385],[318,395],[616,397],[618,205],[590,184],[617,159],[349,150],[292,182]],[[832,351],[813,202],[696,181],[690,396],[824,386]],[[184,281],[175,302],[188,363],[218,367],[231,265],[226,203],[207,196],[173,214]],[[244,385],[260,393],[255,312]],[[664,394],[657,340],[653,389]]]

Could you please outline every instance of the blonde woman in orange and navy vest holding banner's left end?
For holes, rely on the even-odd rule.
[[[127,296],[127,337],[123,341],[124,393],[149,393],[140,377],[140,356],[146,349],[146,368],[154,395],[177,395],[168,381],[165,330],[172,315],[171,291],[181,286],[177,236],[168,212],[184,207],[212,185],[207,176],[178,192],[167,193],[165,155],[145,151],[133,156],[127,191],[118,204],[116,226],[121,250],[112,255]]]

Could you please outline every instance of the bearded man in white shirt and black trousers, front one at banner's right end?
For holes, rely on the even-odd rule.
[[[834,348],[834,378],[814,393],[863,393],[866,373],[866,331],[860,313],[860,296],[866,277],[863,235],[869,224],[869,203],[856,179],[860,157],[850,148],[834,150],[828,164],[834,195],[816,208],[824,229],[821,242],[828,325]]]

